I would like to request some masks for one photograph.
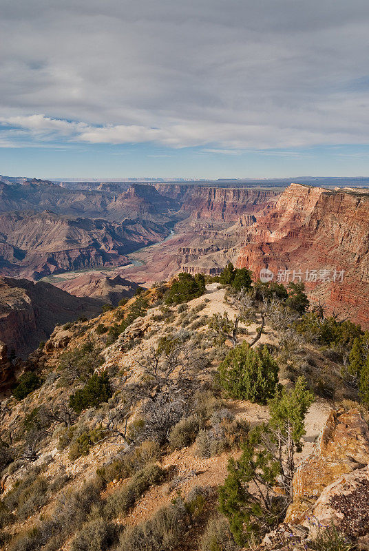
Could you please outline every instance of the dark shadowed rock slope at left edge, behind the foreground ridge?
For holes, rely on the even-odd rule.
[[[25,356],[47,340],[56,324],[93,317],[103,301],[77,298],[45,282],[0,278],[0,341]]]

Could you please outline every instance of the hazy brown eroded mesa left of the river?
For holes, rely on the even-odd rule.
[[[50,212],[0,216],[0,270],[34,279],[50,273],[121,266],[127,253],[165,238],[169,230],[149,220],[109,222]]]

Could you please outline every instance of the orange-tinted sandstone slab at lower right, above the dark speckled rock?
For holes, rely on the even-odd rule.
[[[333,410],[313,452],[293,477],[293,503],[286,521],[299,522],[311,514],[321,492],[346,475],[369,463],[369,429],[356,409]]]

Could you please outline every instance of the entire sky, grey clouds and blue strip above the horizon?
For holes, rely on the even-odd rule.
[[[369,176],[368,0],[0,10],[0,174]]]

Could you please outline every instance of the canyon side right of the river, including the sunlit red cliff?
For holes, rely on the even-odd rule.
[[[274,281],[302,281],[327,314],[369,326],[365,189],[293,183],[282,193],[198,188],[187,196],[185,186],[156,187],[182,197],[190,214],[175,226],[175,238],[135,253],[145,266],[127,269],[127,278],[151,284],[178,271],[218,275],[231,261],[254,280],[268,269]]]

